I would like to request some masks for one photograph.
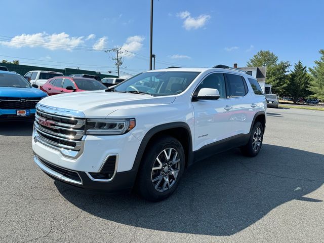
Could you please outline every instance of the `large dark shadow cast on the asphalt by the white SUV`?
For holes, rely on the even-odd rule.
[[[90,195],[55,182],[70,203],[89,214],[141,228],[232,235],[291,200],[317,203],[307,194],[324,182],[324,155],[264,144],[247,158],[238,149],[188,168],[176,192],[159,203],[131,194]]]

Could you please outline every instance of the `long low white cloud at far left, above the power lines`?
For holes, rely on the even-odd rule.
[[[84,44],[84,36],[70,37],[67,33],[54,33],[48,34],[35,33],[35,34],[21,34],[13,37],[9,42],[0,42],[1,45],[22,48],[22,47],[43,47],[50,50],[64,48],[71,51],[71,48]]]

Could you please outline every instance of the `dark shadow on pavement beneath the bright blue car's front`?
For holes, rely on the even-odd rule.
[[[3,121],[0,123],[0,135],[3,136],[31,136],[32,120],[26,121]]]

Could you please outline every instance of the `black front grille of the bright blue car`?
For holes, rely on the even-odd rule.
[[[0,109],[35,109],[39,98],[0,97]]]

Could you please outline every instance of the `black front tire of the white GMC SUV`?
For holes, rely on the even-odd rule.
[[[172,154],[171,155],[172,158],[180,159],[180,161],[177,164],[175,164],[177,166],[179,165],[179,168],[173,170],[173,171],[178,171],[176,179],[173,179],[175,177],[169,174],[168,171],[165,172],[165,169],[153,170],[154,166],[155,166],[154,168],[157,168],[156,167],[157,165],[159,166],[159,163],[156,159],[158,156],[159,156],[159,161],[161,162],[162,165],[168,164],[168,161],[169,161],[168,164],[169,167],[170,164],[172,164],[171,157],[168,160],[164,150],[168,151],[168,153],[170,152],[170,154]],[[177,152],[177,154],[175,151]],[[163,158],[165,158],[165,160]],[[176,159],[175,161],[178,161],[178,159]],[[172,165],[171,168],[169,169],[174,169],[173,167],[174,166]],[[179,184],[179,180],[181,179],[181,176],[183,174],[184,167],[185,167],[184,150],[181,143],[176,138],[171,136],[164,136],[153,140],[147,145],[147,149],[145,149],[144,155],[142,157],[142,163],[138,171],[138,179],[137,179],[138,193],[146,200],[149,201],[159,201],[167,198],[176,190]],[[167,173],[168,175],[166,176],[162,175]],[[172,171],[170,173],[172,173]],[[159,180],[153,182],[153,179],[157,179],[158,177],[168,178],[169,183],[172,182],[171,186],[169,184],[169,188],[166,189],[165,191],[158,191],[158,189],[163,190],[166,188],[166,187],[162,188],[164,183],[166,182],[166,179],[161,179],[162,180],[161,182],[159,182]],[[157,183],[160,184],[156,186]],[[155,186],[157,189],[155,189]]]

